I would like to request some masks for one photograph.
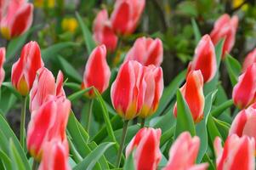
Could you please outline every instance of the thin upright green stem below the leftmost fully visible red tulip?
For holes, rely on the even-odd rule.
[[[20,145],[24,148],[25,144],[25,122],[26,122],[26,100],[27,96],[22,99],[21,115],[20,115]]]

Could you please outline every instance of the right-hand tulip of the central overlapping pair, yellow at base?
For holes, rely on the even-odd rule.
[[[155,65],[145,67],[145,98],[139,117],[151,116],[157,109],[159,100],[162,96],[163,77],[162,68]]]

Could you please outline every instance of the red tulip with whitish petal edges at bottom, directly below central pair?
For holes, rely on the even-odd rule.
[[[161,161],[162,154],[159,148],[161,137],[161,129],[143,127],[134,136],[134,139],[128,144],[126,148],[126,156],[136,148],[134,152],[134,164],[137,170],[154,170],[159,161]]]

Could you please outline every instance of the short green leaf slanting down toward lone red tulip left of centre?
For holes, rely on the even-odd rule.
[[[67,60],[65,60],[60,55],[58,56],[58,59],[60,61],[60,66],[62,68],[62,71],[64,71],[68,77],[73,78],[77,82],[82,82],[81,75],[77,72],[77,70]]]

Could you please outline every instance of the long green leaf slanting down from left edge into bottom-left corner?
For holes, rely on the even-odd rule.
[[[30,169],[29,163],[26,159],[26,154],[24,153],[24,150],[21,148],[19,140],[17,139],[11,127],[9,127],[8,122],[5,121],[2,115],[0,115],[0,130],[3,132],[6,139],[11,139],[13,141],[12,143],[15,145],[15,150],[19,153],[20,159],[25,169]]]

